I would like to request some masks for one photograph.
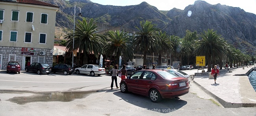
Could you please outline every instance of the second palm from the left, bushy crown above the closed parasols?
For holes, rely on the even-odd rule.
[[[108,37],[106,40],[107,44],[104,46],[104,54],[106,56],[115,54],[115,57],[119,57],[123,54],[124,59],[128,58],[132,60],[134,49],[132,38],[128,36],[128,32],[108,31],[106,35]],[[126,60],[124,61],[126,62]]]

